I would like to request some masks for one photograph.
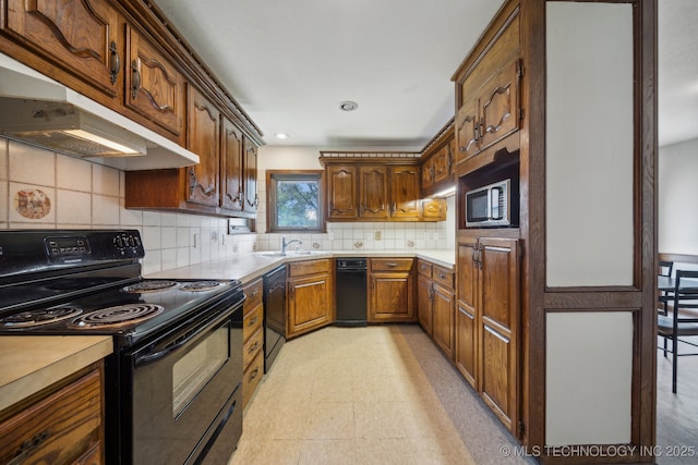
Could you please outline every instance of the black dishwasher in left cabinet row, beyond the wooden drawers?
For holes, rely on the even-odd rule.
[[[264,276],[264,372],[286,342],[286,265]]]

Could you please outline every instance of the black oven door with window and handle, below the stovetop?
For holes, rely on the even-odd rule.
[[[134,464],[198,462],[226,423],[241,431],[242,303],[221,305],[127,355]]]

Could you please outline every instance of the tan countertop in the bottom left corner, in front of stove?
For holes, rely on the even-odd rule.
[[[106,357],[112,350],[108,335],[3,335],[0,411]]]

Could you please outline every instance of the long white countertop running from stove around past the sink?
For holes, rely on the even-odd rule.
[[[289,261],[312,260],[332,257],[416,257],[424,258],[436,265],[453,269],[456,264],[456,252],[434,250],[313,250],[311,255],[289,253],[285,256],[270,256],[274,250],[239,254],[218,260],[206,261],[182,268],[158,271],[145,278],[168,279],[237,279],[243,283],[256,279],[267,271]]]

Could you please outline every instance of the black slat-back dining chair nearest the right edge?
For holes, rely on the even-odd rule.
[[[672,392],[676,393],[676,374],[678,370],[678,357],[698,355],[698,341],[690,338],[698,336],[698,271],[676,270],[675,286],[672,295],[672,307],[667,315],[658,316],[658,333],[664,338],[664,346],[660,347],[664,352],[672,354]],[[666,341],[672,341],[671,350],[666,346]],[[681,352],[687,346],[688,351]]]

